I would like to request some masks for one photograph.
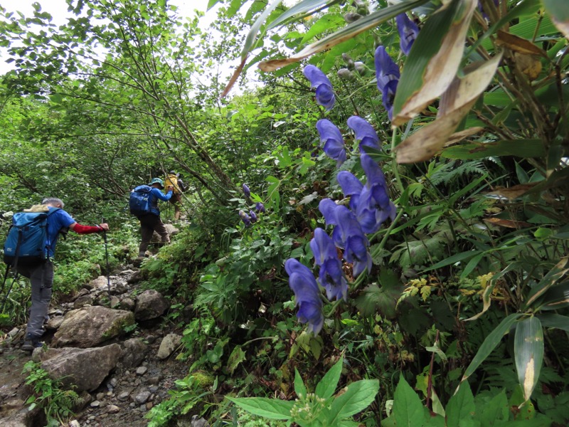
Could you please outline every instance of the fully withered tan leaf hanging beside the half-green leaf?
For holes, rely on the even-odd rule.
[[[415,45],[413,45],[413,48],[414,47]],[[410,55],[413,55],[413,48]],[[467,115],[472,105],[474,105],[477,97],[484,92],[484,89],[486,89],[492,78],[494,78],[500,60],[501,53],[494,56],[491,60],[479,63],[474,70],[464,75],[464,77],[454,78],[454,81],[451,80],[452,84],[449,82],[448,88],[445,88],[446,90],[443,89],[445,93],[443,93],[440,100],[437,119],[421,127],[420,130],[398,145],[396,148],[397,162],[423,162],[430,159],[445,147],[445,144],[447,144],[452,137],[454,130],[456,130],[464,116]],[[405,72],[403,75],[405,75]],[[435,79],[435,77],[433,77],[433,79]],[[425,87],[421,89],[421,92],[425,90],[430,90],[428,82],[425,84]],[[399,94],[399,86],[397,94]],[[438,95],[440,95],[440,93],[437,93],[435,97]],[[421,100],[421,96],[421,93],[419,93],[417,99]],[[434,98],[430,97],[429,102],[432,99]],[[410,105],[411,109],[415,108],[413,107],[413,101]],[[423,107],[425,107],[425,105],[421,105],[420,110],[422,110]],[[405,117],[411,118],[420,110]],[[403,122],[404,121],[405,120],[403,120]],[[393,122],[395,124],[395,120]]]

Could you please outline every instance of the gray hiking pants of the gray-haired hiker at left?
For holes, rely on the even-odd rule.
[[[31,282],[31,311],[26,332],[35,337],[43,334],[43,320],[48,315],[51,301],[51,286],[53,285],[53,263],[18,263],[18,273],[30,279]]]

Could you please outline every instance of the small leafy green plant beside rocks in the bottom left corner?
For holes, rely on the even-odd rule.
[[[36,406],[42,408],[48,426],[63,425],[74,416],[73,408],[83,401],[75,391],[63,389],[61,380],[50,379],[48,372],[36,362],[27,362],[23,373],[28,374],[26,385],[31,386],[33,391],[26,400],[30,411]]]

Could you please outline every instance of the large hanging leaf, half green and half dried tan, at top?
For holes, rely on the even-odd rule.
[[[405,61],[393,101],[393,125],[418,115],[452,83],[476,6],[476,0],[452,0],[427,19]]]

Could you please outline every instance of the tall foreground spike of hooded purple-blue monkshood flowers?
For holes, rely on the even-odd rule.
[[[385,49],[378,49],[378,51],[389,58],[385,54]],[[387,63],[383,58],[384,62],[380,64],[383,68],[378,67],[377,55],[376,52],[376,68],[379,70],[378,87],[381,82],[383,90],[389,90],[392,85],[390,82],[394,81],[396,88],[399,78],[397,65],[393,63],[393,60]],[[304,75],[309,78],[312,86],[317,88],[317,102],[324,105],[325,102],[319,100],[319,88],[325,85],[326,93],[333,95],[329,80],[314,65],[304,68]],[[322,228],[317,228],[314,230],[314,238],[310,241],[314,263],[319,267],[318,281],[315,280],[312,271],[299,261],[291,258],[285,263],[285,270],[289,274],[289,286],[294,291],[299,307],[298,320],[308,323],[308,330],[314,334],[318,334],[324,325],[324,317],[321,313],[321,292],[318,284],[326,290],[326,297],[329,300],[347,299],[348,281],[336,248],[341,248],[344,260],[353,264],[354,277],[361,275],[364,271],[369,272],[372,260],[366,233],[375,233],[388,218],[393,221],[396,214],[395,205],[389,199],[385,176],[379,165],[366,154],[363,148],[381,149],[376,131],[366,120],[358,116],[350,117],[348,126],[360,142],[360,162],[366,174],[366,182],[364,184],[351,172],[341,171],[337,179],[344,191],[344,197],[350,198],[349,208],[336,204],[331,199],[320,201],[319,210],[324,216],[326,226],[334,226],[334,231],[330,237]],[[346,160],[346,147],[340,130],[326,119],[317,122],[317,130],[324,144],[324,152],[331,159],[336,160],[337,166],[340,166]]]

